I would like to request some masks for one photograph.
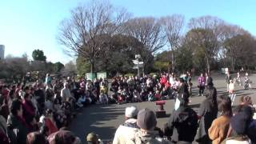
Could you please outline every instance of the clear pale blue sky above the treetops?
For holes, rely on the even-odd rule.
[[[74,58],[63,52],[56,39],[58,26],[70,18],[70,10],[89,0],[0,0],[0,45],[6,55],[30,56],[43,50],[47,61],[66,63]],[[104,1],[104,0],[103,0]],[[110,0],[116,7],[126,8],[133,17],[160,18],[182,14],[190,18],[217,16],[241,26],[256,36],[255,0]]]

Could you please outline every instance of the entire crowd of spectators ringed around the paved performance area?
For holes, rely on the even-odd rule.
[[[113,143],[191,143],[194,139],[199,143],[220,143],[226,138],[225,142],[256,142],[250,97],[242,97],[241,105],[232,113],[230,98],[219,97],[218,102],[213,79],[207,73],[201,74],[198,94],[205,94],[206,100],[196,113],[188,105],[191,79],[188,72],[178,78],[174,74],[118,77],[109,84],[106,78],[90,81],[46,74],[44,82],[1,83],[0,143],[81,143],[68,126],[82,107],[170,98],[175,99],[175,109],[162,129],[156,127],[152,110],[126,108],[126,122],[118,127]],[[217,118],[218,111],[221,116]],[[97,134],[88,134],[86,141],[98,143]]]

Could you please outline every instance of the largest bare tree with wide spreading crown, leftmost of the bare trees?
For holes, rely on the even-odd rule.
[[[114,9],[109,2],[91,1],[72,10],[71,18],[62,21],[58,42],[66,46],[67,54],[80,54],[86,58],[94,72],[95,61],[105,43],[120,31],[127,17],[126,10]]]

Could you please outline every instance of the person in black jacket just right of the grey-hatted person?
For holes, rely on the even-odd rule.
[[[174,110],[169,122],[164,126],[164,134],[173,143],[191,143],[198,130],[198,115],[182,100],[178,110]],[[171,137],[171,138],[170,138]]]

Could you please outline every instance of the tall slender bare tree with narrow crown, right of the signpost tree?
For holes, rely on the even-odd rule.
[[[175,69],[175,56],[174,51],[178,48],[181,40],[182,28],[184,26],[184,17],[182,15],[174,14],[161,18],[162,26],[166,33],[167,41],[170,44],[172,71]],[[168,72],[170,73],[170,64],[168,66]]]

